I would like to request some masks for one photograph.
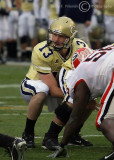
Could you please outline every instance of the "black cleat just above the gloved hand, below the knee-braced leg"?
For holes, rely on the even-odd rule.
[[[59,146],[58,144],[58,138],[54,137],[44,137],[43,142],[42,142],[42,148],[43,149],[48,149],[51,151],[55,151],[57,147]]]

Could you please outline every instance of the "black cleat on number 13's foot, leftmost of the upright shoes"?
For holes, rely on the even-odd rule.
[[[28,148],[35,148],[34,144],[34,133],[33,134],[27,134],[23,132],[22,138],[26,141]]]

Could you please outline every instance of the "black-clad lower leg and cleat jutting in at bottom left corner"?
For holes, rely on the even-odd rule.
[[[0,133],[0,147],[8,151],[11,160],[24,160],[24,152],[27,149],[24,140]]]

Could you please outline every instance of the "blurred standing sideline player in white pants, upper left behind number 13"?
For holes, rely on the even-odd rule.
[[[17,0],[21,1],[21,0]],[[31,57],[31,48],[37,44],[36,19],[39,17],[39,0],[22,0],[20,3],[20,16],[18,35],[20,39],[21,60]],[[28,43],[30,43],[28,50]]]

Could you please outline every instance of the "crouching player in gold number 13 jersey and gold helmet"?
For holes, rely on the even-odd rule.
[[[36,45],[32,52],[32,63],[21,84],[22,97],[29,102],[27,120],[22,137],[28,147],[34,145],[34,127],[45,103],[49,111],[62,102],[63,92],[58,86],[59,71],[78,48],[87,46],[76,39],[75,23],[68,17],[52,22],[48,40]],[[57,98],[58,97],[58,98]]]

